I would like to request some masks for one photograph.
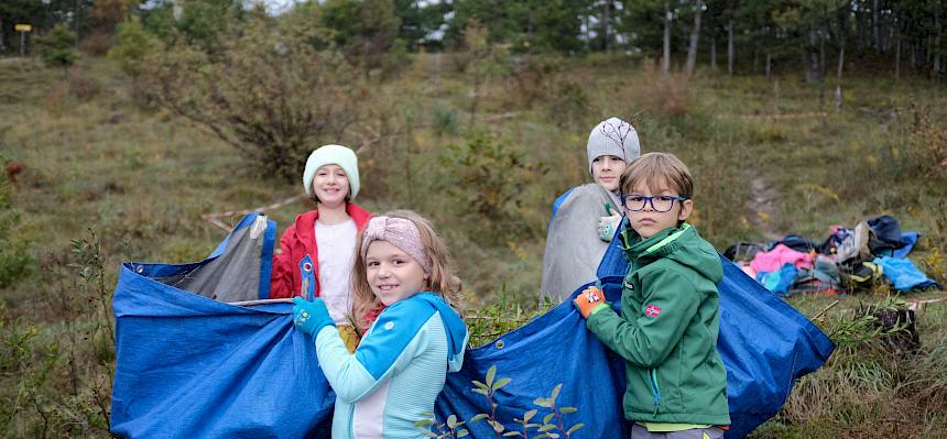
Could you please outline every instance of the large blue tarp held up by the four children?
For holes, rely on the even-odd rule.
[[[111,430],[135,438],[328,436],[335,395],[312,342],[293,329],[290,305],[232,306],[160,282],[199,271],[215,253],[186,265],[122,264],[113,301]],[[269,271],[264,253],[261,272]],[[728,261],[723,265],[718,349],[733,420],[727,437],[737,438],[777,413],[794,380],[821,365],[832,344],[805,316]],[[625,270],[613,242],[599,275],[614,303]],[[585,424],[574,438],[628,437],[623,363],[585,329],[570,303],[468,350],[464,369],[448,374],[437,400],[440,419],[489,413],[488,400],[471,392],[471,380],[482,381],[491,365],[498,377],[512,378],[496,395],[496,416],[508,429],[518,429],[514,418],[540,408],[535,398],[563,384],[556,405],[578,408],[564,424]],[[546,413],[540,408],[533,420]],[[465,427],[474,438],[494,437],[486,421]]]

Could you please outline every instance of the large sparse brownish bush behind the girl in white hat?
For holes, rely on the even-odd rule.
[[[309,152],[371,132],[384,118],[372,88],[339,52],[317,51],[305,35],[247,23],[214,56],[171,47],[150,57],[145,96],[218,136],[260,172],[295,182]],[[351,139],[350,139],[351,140]],[[355,143],[355,142],[348,142]]]

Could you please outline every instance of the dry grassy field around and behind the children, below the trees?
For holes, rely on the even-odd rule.
[[[912,259],[947,282],[947,166],[936,162],[947,152],[943,86],[855,76],[845,80],[841,109],[829,106],[823,119],[816,86],[797,76],[688,79],[640,62],[554,62],[525,81],[488,79],[471,97],[467,74],[426,55],[379,92],[410,129],[360,153],[358,201],[432,218],[471,308],[534,308],[549,206],[588,179],[585,139],[608,116],[633,121],[643,152],[673,152],[688,163],[697,179],[694,222],[720,251],[790,233],[821,241],[831,224],[889,213],[924,234]],[[202,215],[300,193],[216,136],[134,98],[116,64],[83,58],[79,67],[81,77],[67,80],[32,59],[0,59],[0,154],[23,165],[15,183],[0,188],[0,243],[29,256],[15,262],[22,271],[14,262],[0,271],[4,437],[108,436],[107,304],[120,262],[203,259],[225,232]],[[471,213],[478,201],[469,196],[496,186],[492,177],[475,174],[482,186],[451,186],[469,172],[457,167],[457,155],[478,139],[523,164],[499,186],[511,196],[498,206],[503,221]],[[509,164],[502,154],[475,160]],[[309,208],[297,200],[266,213],[282,232]],[[503,309],[501,290],[511,304]],[[843,330],[861,304],[888,294],[879,286],[790,299],[810,317],[839,300],[817,322],[843,343],[754,437],[947,437],[947,303],[918,311],[916,354],[893,354],[869,329]],[[483,330],[511,329],[526,317]]]

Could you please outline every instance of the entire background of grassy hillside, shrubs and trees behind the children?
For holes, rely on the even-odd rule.
[[[119,264],[200,260],[240,217],[209,215],[287,200],[282,231],[325,143],[358,150],[360,204],[434,220],[480,342],[544,309],[551,204],[610,116],[690,166],[718,250],[888,213],[945,285],[945,6],[4,0],[0,436],[107,437]],[[754,437],[947,437],[944,296],[787,298],[838,349]],[[874,316],[912,303],[903,350]]]

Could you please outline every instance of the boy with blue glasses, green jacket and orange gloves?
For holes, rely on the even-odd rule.
[[[723,267],[685,222],[694,180],[672,154],[649,153],[621,176],[629,221],[620,235],[629,271],[621,315],[597,287],[575,305],[588,329],[625,360],[624,417],[632,439],[723,437],[730,424],[727,371],[717,352]]]

